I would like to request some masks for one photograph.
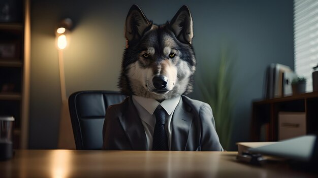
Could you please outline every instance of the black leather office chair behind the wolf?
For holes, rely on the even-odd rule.
[[[116,91],[78,91],[71,94],[69,109],[76,150],[102,149],[106,109],[125,97]]]

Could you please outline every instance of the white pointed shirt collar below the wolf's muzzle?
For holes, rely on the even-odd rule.
[[[158,102],[153,98],[145,98],[136,95],[133,95],[133,98],[151,115],[153,114],[154,110],[157,108],[158,105],[161,105],[166,110],[168,115],[171,115],[171,113],[175,110],[180,101],[180,96],[165,99],[163,102]]]

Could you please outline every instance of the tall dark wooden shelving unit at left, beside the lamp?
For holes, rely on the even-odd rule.
[[[13,116],[14,149],[26,149],[30,63],[29,0],[4,0],[0,16],[0,115]]]

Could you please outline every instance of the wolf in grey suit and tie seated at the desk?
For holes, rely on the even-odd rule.
[[[188,7],[155,25],[133,5],[125,38],[118,86],[129,97],[107,109],[103,149],[222,151],[210,105],[183,95],[196,69]]]

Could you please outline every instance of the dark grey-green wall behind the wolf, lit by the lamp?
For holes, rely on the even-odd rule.
[[[70,17],[75,24],[64,53],[67,95],[78,90],[118,90],[124,20],[132,4],[155,23],[170,20],[182,5],[190,8],[197,79],[202,66],[215,69],[222,44],[235,53],[232,149],[236,141],[248,141],[251,102],[262,97],[266,66],[294,66],[293,1],[33,0],[29,148],[57,147],[61,99],[54,29],[59,20]],[[190,97],[202,99],[197,86]]]

